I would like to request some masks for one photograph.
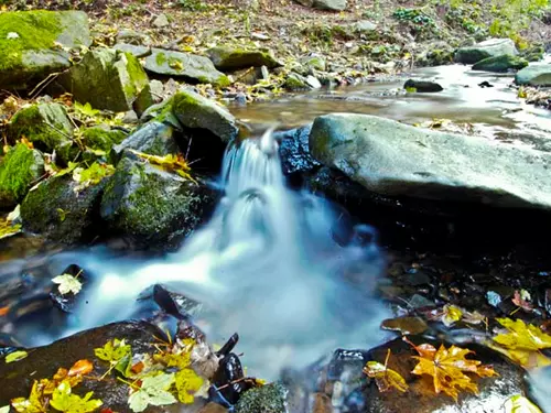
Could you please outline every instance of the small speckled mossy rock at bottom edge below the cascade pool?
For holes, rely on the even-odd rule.
[[[285,413],[287,389],[280,383],[270,383],[251,389],[239,399],[236,413]]]

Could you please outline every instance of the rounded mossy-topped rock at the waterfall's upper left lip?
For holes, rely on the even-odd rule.
[[[172,112],[183,127],[206,129],[224,142],[235,139],[239,132],[236,119],[225,107],[192,90],[174,95]]]

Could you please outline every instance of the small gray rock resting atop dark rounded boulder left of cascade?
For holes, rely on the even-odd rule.
[[[110,161],[117,164],[122,152],[128,149],[158,156],[180,153],[180,148],[174,139],[174,127],[156,121],[145,123],[120,144],[112,146]]]

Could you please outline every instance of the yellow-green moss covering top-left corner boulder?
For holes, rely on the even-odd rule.
[[[23,51],[53,47],[62,31],[62,22],[55,12],[0,13],[0,70],[18,68],[23,61]],[[19,37],[8,39],[9,33],[17,33]]]

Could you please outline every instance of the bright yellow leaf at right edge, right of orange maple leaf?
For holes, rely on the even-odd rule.
[[[525,324],[521,319],[496,318],[507,333],[494,337],[499,345],[491,346],[501,351],[511,360],[517,361],[526,368],[544,367],[551,365],[551,359],[543,356],[540,350],[551,348],[551,336],[543,333],[541,328],[531,324]]]

